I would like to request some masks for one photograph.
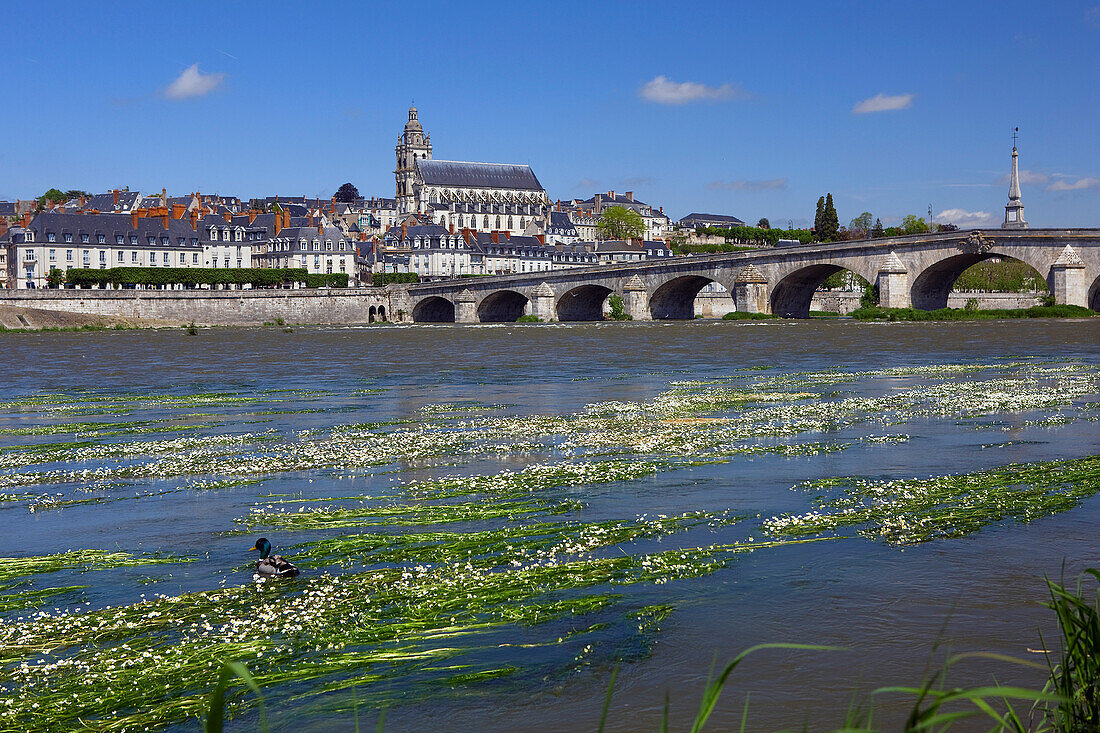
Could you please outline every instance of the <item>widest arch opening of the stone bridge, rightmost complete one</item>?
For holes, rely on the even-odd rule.
[[[912,283],[913,307],[920,310],[964,307],[970,298],[983,309],[1016,308],[1048,293],[1046,280],[1034,267],[992,252],[941,260]]]

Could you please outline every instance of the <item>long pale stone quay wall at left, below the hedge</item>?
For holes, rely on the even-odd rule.
[[[194,321],[197,326],[255,326],[279,318],[286,324],[354,325],[402,319],[407,313],[403,311],[407,297],[404,288],[394,286],[275,291],[0,289],[0,306],[158,325]]]

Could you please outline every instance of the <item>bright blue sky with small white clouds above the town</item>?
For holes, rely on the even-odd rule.
[[[0,197],[393,196],[415,100],[436,157],[773,226],[999,225],[1019,125],[1032,226],[1100,226],[1098,0],[7,7]]]

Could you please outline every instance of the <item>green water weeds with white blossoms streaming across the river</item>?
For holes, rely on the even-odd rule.
[[[1094,417],[1100,394],[1094,366],[1037,359],[674,376],[648,396],[563,414],[448,395],[348,424],[333,424],[343,405],[373,403],[362,397],[381,386],[9,398],[2,429],[20,441],[0,451],[9,514],[78,519],[109,502],[206,502],[263,484],[263,495],[230,494],[255,502],[212,519],[210,536],[270,533],[302,576],[251,582],[233,555],[229,575],[196,570],[187,588],[200,590],[46,612],[32,610],[82,599],[96,572],[178,560],[101,550],[0,560],[0,730],[184,722],[205,710],[230,659],[246,660],[286,704],[351,688],[394,704],[450,686],[538,683],[645,656],[682,598],[666,586],[746,554],[955,537],[1063,512],[1100,489],[1100,458],[1086,457],[933,479],[817,479],[793,495],[807,511],[774,516],[748,518],[737,488],[689,512],[624,516],[606,500],[667,505],[666,494],[697,491],[724,464],[912,450],[930,422],[1074,429]],[[64,417],[86,411],[111,417]],[[233,429],[258,414],[272,417],[262,431]],[[176,429],[187,433],[161,435]],[[53,438],[65,435],[73,440]],[[231,713],[249,704],[238,699]]]

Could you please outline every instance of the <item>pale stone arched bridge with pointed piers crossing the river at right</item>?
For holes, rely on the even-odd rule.
[[[1100,310],[1100,229],[983,229],[746,252],[648,260],[409,285],[395,303],[417,322],[601,320],[612,294],[634,320],[690,319],[710,283],[737,310],[810,315],[814,291],[849,270],[875,284],[886,307],[943,308],[955,280],[991,258],[1020,260],[1046,278],[1055,302]]]

